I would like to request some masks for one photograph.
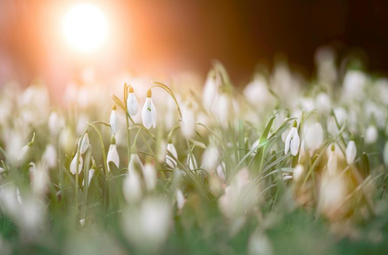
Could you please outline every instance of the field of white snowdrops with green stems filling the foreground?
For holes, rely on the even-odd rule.
[[[386,78],[144,80],[1,87],[1,254],[386,253]]]

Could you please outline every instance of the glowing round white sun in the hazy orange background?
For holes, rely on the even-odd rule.
[[[100,48],[107,38],[104,13],[88,3],[72,7],[63,20],[62,28],[68,43],[83,53]]]

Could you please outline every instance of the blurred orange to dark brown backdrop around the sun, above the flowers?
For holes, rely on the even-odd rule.
[[[60,89],[85,67],[102,79],[188,70],[205,79],[218,59],[234,83],[244,85],[258,63],[271,66],[282,54],[313,74],[314,52],[323,44],[340,55],[356,53],[369,70],[388,70],[383,0],[85,1],[98,8],[106,25],[103,42],[90,52],[68,43],[63,29],[69,10],[81,2],[0,2],[0,84],[27,86],[39,79]],[[88,13],[82,20],[95,24]]]

